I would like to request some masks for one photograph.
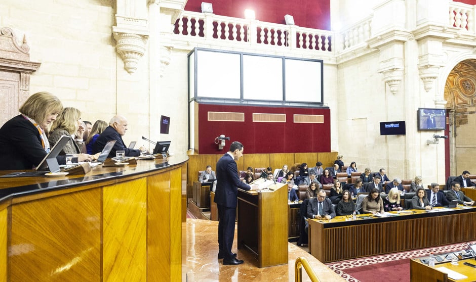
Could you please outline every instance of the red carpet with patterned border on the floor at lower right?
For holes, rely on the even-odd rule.
[[[472,244],[476,243],[470,242]],[[445,252],[456,252],[465,249],[467,246],[467,243],[461,243],[461,244],[454,244],[454,245],[447,245],[447,246],[440,246],[440,247],[434,247],[434,248],[428,248],[428,249],[420,249],[420,250],[413,250],[413,251],[407,251],[407,252],[402,252],[402,253],[393,253],[393,254],[387,254],[387,255],[381,255],[381,256],[375,256],[375,257],[367,257],[367,258],[361,258],[361,259],[355,259],[355,260],[346,260],[346,261],[339,261],[339,262],[333,262],[333,263],[328,263],[326,264],[329,268],[333,269],[334,272],[339,274],[341,277],[346,279],[348,282],[366,282],[364,280],[359,280],[355,277],[352,277],[350,274],[346,273],[347,272],[355,272],[353,268],[357,267],[362,267],[362,266],[371,266],[371,267],[362,267],[361,270],[363,271],[372,271],[375,273],[378,273],[376,269],[382,269],[384,272],[386,271],[385,268],[388,265],[392,265],[391,267],[388,267],[388,274],[395,274],[392,273],[395,271],[395,267],[398,268],[405,268],[405,270],[408,268],[408,277],[402,277],[398,276],[396,277],[398,281],[405,282],[405,281],[410,281],[410,261],[408,259],[415,258],[415,257],[421,257],[421,256],[427,256],[430,254],[430,252],[434,253],[445,253]],[[402,260],[400,262],[397,262],[399,260]],[[407,271],[405,271],[407,272]],[[385,277],[385,273],[380,273],[380,278]],[[386,277],[385,277],[386,278]],[[385,279],[386,281],[389,281],[388,279]],[[375,277],[370,279],[368,281],[375,281]]]

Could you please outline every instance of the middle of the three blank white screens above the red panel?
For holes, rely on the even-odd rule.
[[[243,55],[243,99],[283,101],[283,58]]]

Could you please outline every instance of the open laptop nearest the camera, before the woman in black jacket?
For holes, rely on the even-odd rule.
[[[2,177],[27,177],[27,176],[41,176],[44,175],[47,171],[58,172],[60,171],[60,166],[56,156],[63,150],[63,147],[71,139],[71,136],[63,135],[56,142],[56,144],[51,148],[50,153],[48,153],[41,162],[34,168],[36,171],[22,171],[22,172],[13,172]]]

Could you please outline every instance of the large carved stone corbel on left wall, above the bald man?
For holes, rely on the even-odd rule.
[[[117,41],[116,52],[124,61],[124,68],[128,73],[133,73],[137,69],[139,59],[144,56],[147,35],[116,32],[114,39]]]

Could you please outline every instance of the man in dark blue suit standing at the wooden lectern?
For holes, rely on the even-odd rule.
[[[218,259],[223,258],[224,265],[242,264],[244,261],[236,259],[236,254],[231,252],[234,238],[236,218],[236,202],[238,189],[250,190],[251,186],[240,180],[236,162],[243,156],[243,144],[233,142],[230,150],[217,162],[217,185],[215,200],[218,208]],[[253,184],[253,186],[256,186]],[[254,187],[256,189],[256,187]]]

